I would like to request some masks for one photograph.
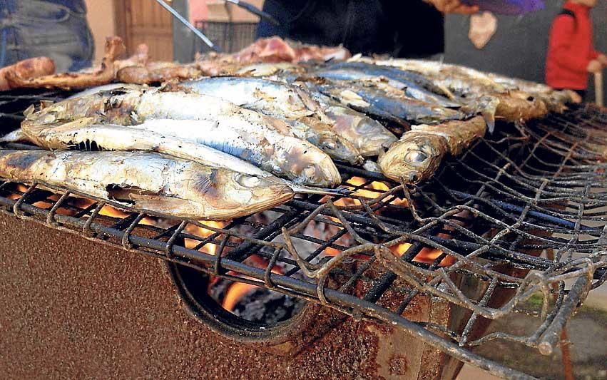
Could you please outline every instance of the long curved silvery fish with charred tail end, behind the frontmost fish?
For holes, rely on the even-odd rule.
[[[24,130],[93,117],[208,145],[298,185],[334,187],[341,178],[331,158],[292,135],[281,120],[212,96],[161,91],[111,91],[62,101],[28,113]]]

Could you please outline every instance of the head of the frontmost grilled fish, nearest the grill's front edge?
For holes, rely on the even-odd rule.
[[[231,208],[253,213],[291,200],[293,190],[275,178],[214,169],[213,196],[206,199],[218,209]],[[210,195],[207,193],[207,195]]]

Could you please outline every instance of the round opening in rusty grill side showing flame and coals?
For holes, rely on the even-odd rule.
[[[215,332],[238,342],[282,344],[314,320],[315,307],[302,299],[175,263],[168,263],[168,271],[188,310]]]

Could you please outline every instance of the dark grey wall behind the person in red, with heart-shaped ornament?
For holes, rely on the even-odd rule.
[[[496,34],[482,50],[468,39],[469,16],[447,16],[445,61],[544,82],[550,25],[562,6],[563,0],[546,0],[543,11],[522,17],[499,16]],[[592,16],[595,46],[598,51],[607,52],[607,1],[599,0]],[[593,100],[592,77],[589,84],[589,100]],[[607,91],[607,86],[603,91]]]

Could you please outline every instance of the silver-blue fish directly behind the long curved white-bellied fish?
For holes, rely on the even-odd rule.
[[[216,77],[180,83],[195,93],[215,96],[253,111],[284,120],[292,132],[330,157],[359,165],[363,159],[354,145],[337,135],[318,104],[304,91],[262,78]]]

